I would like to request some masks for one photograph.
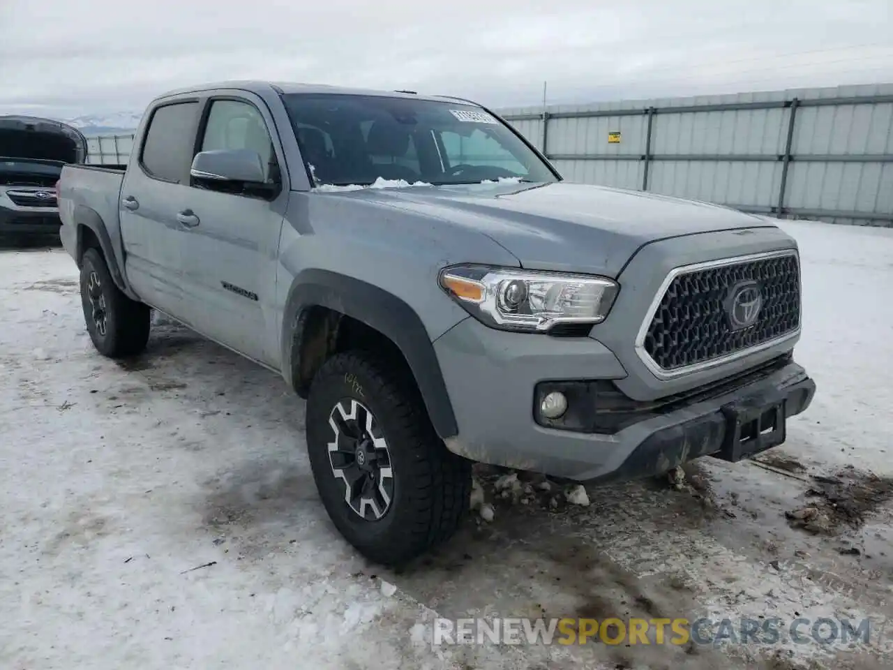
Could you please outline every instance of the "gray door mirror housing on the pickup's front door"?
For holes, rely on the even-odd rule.
[[[196,186],[228,193],[271,196],[277,189],[266,179],[261,155],[251,149],[199,152],[192,159],[189,177]]]

